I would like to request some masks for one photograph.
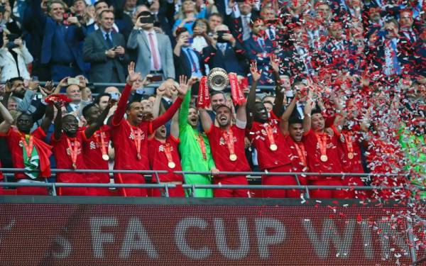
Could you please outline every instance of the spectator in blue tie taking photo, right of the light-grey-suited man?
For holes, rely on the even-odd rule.
[[[191,35],[186,28],[180,28],[176,32],[176,46],[173,50],[175,60],[176,75],[185,75],[186,77],[202,77],[204,65],[201,63],[201,57],[190,47]]]

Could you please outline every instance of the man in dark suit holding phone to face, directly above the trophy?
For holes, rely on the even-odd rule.
[[[202,50],[202,57],[204,62],[209,65],[210,70],[220,67],[228,73],[234,72],[245,76],[240,63],[245,59],[244,48],[231,35],[226,25],[216,27],[213,43]]]

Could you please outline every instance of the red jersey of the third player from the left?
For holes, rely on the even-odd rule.
[[[82,131],[83,137],[83,158],[84,164],[87,169],[99,169],[99,170],[108,170],[108,160],[102,159],[102,138],[101,131],[104,143],[104,150],[108,155],[108,145],[110,140],[109,135],[109,126],[101,126],[100,130],[96,131],[90,138],[87,138],[84,131]],[[108,173],[87,173],[87,178],[95,180],[102,180],[105,183],[109,183],[109,174]]]

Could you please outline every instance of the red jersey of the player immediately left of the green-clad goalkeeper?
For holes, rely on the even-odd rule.
[[[179,140],[176,140],[171,135],[165,140],[165,143],[160,142],[160,140],[157,140],[156,138],[149,140],[149,163],[151,169],[170,171],[167,174],[159,174],[160,182],[182,182],[182,175],[173,174],[173,171],[182,171],[178,145]],[[166,156],[168,149],[170,150],[174,167],[170,167],[171,165],[169,165],[169,161]],[[153,181],[155,180],[155,175],[153,175]]]

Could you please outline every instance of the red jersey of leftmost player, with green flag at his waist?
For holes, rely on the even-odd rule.
[[[9,146],[9,150],[11,151],[13,167],[15,168],[25,168],[25,166],[23,165],[23,144],[21,143],[21,135],[25,134],[20,133],[17,128],[10,128],[6,134],[0,133],[0,136],[6,137],[7,145]],[[46,137],[45,132],[40,127],[35,129],[35,131],[31,133],[31,135],[33,135],[34,138],[38,138],[40,140],[44,140],[44,138]],[[15,178],[25,179],[28,177],[23,174],[23,172],[15,172]]]

